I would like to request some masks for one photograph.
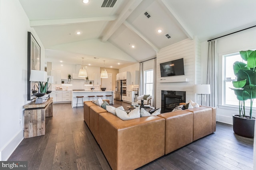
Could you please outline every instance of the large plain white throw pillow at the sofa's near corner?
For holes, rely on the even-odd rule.
[[[116,116],[122,120],[131,120],[131,119],[139,118],[140,117],[140,106],[137,107],[136,109],[133,109],[128,114],[126,113],[126,111],[116,108]]]

